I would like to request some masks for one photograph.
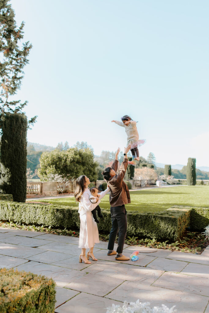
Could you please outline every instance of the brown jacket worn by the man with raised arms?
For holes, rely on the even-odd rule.
[[[131,203],[128,186],[125,184],[125,182],[123,182],[127,167],[128,159],[124,158],[123,162],[121,163],[119,173],[108,180],[111,207],[118,207],[123,204]],[[117,172],[117,160],[114,160],[112,163],[112,169]]]

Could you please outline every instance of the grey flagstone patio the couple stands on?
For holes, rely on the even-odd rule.
[[[56,313],[105,313],[123,301],[175,305],[181,313],[209,313],[209,246],[199,254],[124,246],[139,260],[107,256],[107,243],[94,248],[98,261],[79,263],[78,238],[0,228],[0,267],[30,271],[56,282]]]

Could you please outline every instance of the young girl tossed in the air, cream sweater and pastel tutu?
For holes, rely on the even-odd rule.
[[[125,131],[127,134],[127,146],[131,145],[131,154],[132,154],[132,161],[128,161],[128,164],[135,165],[135,161],[139,161],[139,152],[138,146],[141,146],[145,143],[145,139],[138,138],[138,131],[136,127],[136,121],[133,121],[132,118],[128,115],[124,115],[121,117],[122,122],[120,121],[112,121],[118,124],[119,126],[125,127]]]

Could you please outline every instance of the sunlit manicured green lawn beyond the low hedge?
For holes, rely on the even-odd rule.
[[[176,186],[170,188],[143,189],[130,191],[130,196],[131,203],[126,205],[126,209],[139,212],[164,211],[173,205],[209,207],[209,186]],[[74,197],[39,201],[73,207],[78,206]],[[110,208],[109,195],[106,195],[101,200],[100,207],[105,209]]]

